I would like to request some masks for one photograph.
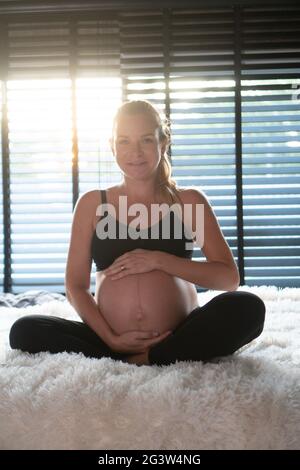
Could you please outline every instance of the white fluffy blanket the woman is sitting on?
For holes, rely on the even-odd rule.
[[[26,314],[76,318],[69,303],[0,308],[1,449],[297,449],[300,289],[261,296],[265,329],[221,362],[141,366],[10,350]],[[199,294],[203,305],[221,291]],[[78,319],[78,318],[77,318]]]

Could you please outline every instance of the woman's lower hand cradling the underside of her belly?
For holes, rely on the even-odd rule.
[[[169,336],[172,331],[166,331],[155,336],[153,331],[127,331],[121,335],[114,335],[110,341],[113,351],[127,354],[138,354],[147,351],[150,347],[160,343]]]

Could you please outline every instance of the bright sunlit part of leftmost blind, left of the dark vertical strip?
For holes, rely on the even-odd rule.
[[[12,283],[59,291],[72,213],[70,82],[8,84]]]

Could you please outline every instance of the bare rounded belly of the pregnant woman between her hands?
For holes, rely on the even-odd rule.
[[[95,301],[116,334],[174,330],[198,305],[194,284],[159,270],[116,280],[97,272]]]

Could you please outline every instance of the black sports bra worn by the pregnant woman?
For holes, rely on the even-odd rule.
[[[103,203],[106,203],[107,202],[106,191],[101,190],[100,192],[101,192]],[[184,224],[182,221],[181,221],[182,237],[175,238],[175,233],[174,233],[175,215],[173,211],[169,211],[168,214],[170,216],[170,236],[168,238],[163,238],[162,236],[163,235],[162,223],[163,223],[163,220],[166,218],[166,216],[164,216],[162,219],[160,219],[160,221],[157,224],[153,226],[150,226],[146,229],[140,229],[140,230],[136,229],[136,231],[140,233],[140,237],[134,240],[130,236],[130,233],[129,233],[130,227],[126,224],[122,224],[117,219],[112,217],[111,214],[108,214],[108,212],[106,211],[106,214],[105,214],[105,216],[107,217],[106,220],[108,220],[109,217],[111,217],[113,223],[116,224],[116,237],[108,238],[107,236],[106,238],[102,238],[104,234],[107,232],[107,229],[106,229],[106,230],[101,230],[101,238],[99,238],[97,235],[97,229],[94,230],[92,241],[91,241],[91,255],[92,255],[93,261],[96,264],[96,271],[101,271],[102,269],[106,269],[108,266],[110,266],[114,262],[116,258],[118,258],[119,256],[123,255],[124,253],[128,251],[135,250],[136,248],[143,248],[144,250],[165,251],[167,253],[180,256],[182,258],[192,258],[193,239],[185,237]],[[100,220],[98,221],[97,226]],[[108,223],[105,224],[106,227],[107,225]],[[122,238],[122,237],[119,238],[120,225],[123,225],[123,226],[125,225],[125,232],[127,234],[126,238]],[[156,230],[158,230],[157,238],[151,238],[151,228],[153,230],[154,227],[156,228]],[[143,236],[142,234],[145,234],[145,232],[148,232],[146,235],[147,238],[142,238]],[[189,247],[192,247],[192,248],[187,249],[186,243],[188,243]]]

